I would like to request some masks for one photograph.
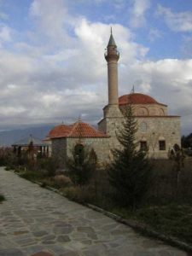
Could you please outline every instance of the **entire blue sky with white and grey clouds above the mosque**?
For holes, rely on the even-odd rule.
[[[189,0],[0,0],[0,130],[79,115],[96,124],[108,103],[110,26],[119,95],[134,84],[192,132]]]

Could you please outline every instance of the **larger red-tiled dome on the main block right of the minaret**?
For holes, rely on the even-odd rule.
[[[131,93],[126,94],[119,97],[119,105],[126,105],[126,104],[159,104],[166,106],[164,104],[161,104],[154,100],[151,96],[142,94],[142,93]]]

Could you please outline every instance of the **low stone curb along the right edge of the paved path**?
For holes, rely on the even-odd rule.
[[[17,173],[15,172],[17,175],[20,176],[20,173]],[[37,181],[32,181],[32,180],[29,180],[31,181],[32,183],[36,183],[38,184],[39,186],[41,186],[43,183],[39,183]],[[64,196],[60,191],[59,189],[54,189],[52,187],[49,187],[49,186],[45,186],[44,189],[49,189],[51,190],[52,192],[55,192],[61,196]],[[66,197],[67,198],[67,197]],[[67,198],[68,199],[68,198]],[[68,199],[69,200],[69,199]],[[79,203],[79,202],[78,202]],[[154,230],[151,230],[150,228],[148,228],[148,226],[146,225],[143,225],[143,224],[138,224],[137,222],[135,221],[132,221],[132,220],[128,220],[128,219],[125,219],[125,218],[122,218],[120,217],[119,215],[116,215],[112,212],[108,212],[100,207],[96,207],[94,205],[91,205],[89,203],[84,203],[82,204],[84,205],[84,207],[89,207],[90,209],[96,211],[96,212],[102,212],[104,215],[108,216],[109,218],[113,218],[115,221],[119,222],[119,223],[122,223],[122,224],[125,224],[127,226],[130,226],[132,229],[134,230],[137,230],[138,232],[140,233],[143,233],[143,234],[146,234],[148,236],[151,236],[151,237],[154,237],[156,239],[159,239],[161,241],[165,241],[166,243],[170,244],[170,245],[173,245],[173,246],[176,246],[176,247],[179,247],[187,252],[192,252],[192,246],[190,246],[189,244],[187,244],[186,242],[184,241],[179,241],[177,240],[177,238],[175,237],[172,237],[172,236],[165,236],[159,232],[156,232]]]

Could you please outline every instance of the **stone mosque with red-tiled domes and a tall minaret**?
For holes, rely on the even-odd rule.
[[[111,32],[105,59],[108,62],[108,105],[103,108],[103,118],[98,129],[78,120],[72,125],[57,125],[46,137],[50,154],[66,166],[72,148],[94,148],[98,161],[112,160],[111,149],[119,147],[117,134],[124,121],[124,111],[131,103],[137,119],[137,149],[146,150],[148,157],[166,159],[175,144],[180,146],[180,117],[168,115],[167,106],[153,97],[131,92],[118,95],[119,51]]]

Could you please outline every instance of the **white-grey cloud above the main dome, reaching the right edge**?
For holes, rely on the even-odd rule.
[[[158,101],[168,104],[170,113],[183,115],[191,105],[191,70],[192,60],[143,61],[131,67],[131,79],[134,84],[135,78],[136,90],[147,91]]]

